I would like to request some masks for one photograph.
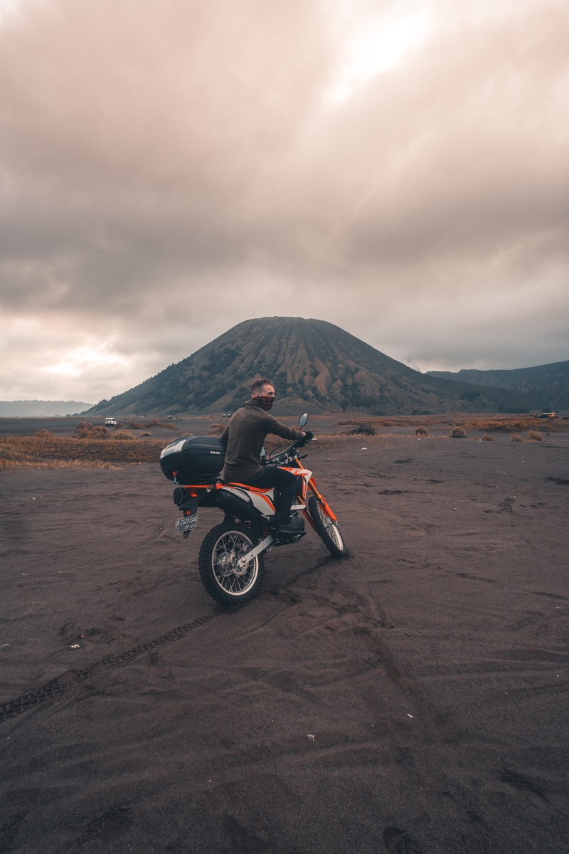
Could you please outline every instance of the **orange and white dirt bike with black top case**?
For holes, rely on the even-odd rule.
[[[299,418],[300,427],[308,421]],[[240,605],[253,599],[264,575],[264,554],[275,546],[298,542],[305,535],[303,517],[311,525],[334,557],[346,553],[338,521],[324,496],[318,491],[312,472],[300,465],[303,442],[276,447],[264,465],[278,465],[297,476],[296,502],[293,503],[293,534],[276,535],[275,489],[258,489],[244,483],[224,482],[219,478],[224,449],[211,436],[183,436],[171,442],[160,454],[165,476],[177,484],[174,503],[183,512],[175,533],[189,536],[198,522],[198,508],[218,507],[224,521],[212,528],[200,547],[201,581],[221,605]],[[302,514],[299,516],[299,512]],[[296,518],[294,518],[296,517]]]

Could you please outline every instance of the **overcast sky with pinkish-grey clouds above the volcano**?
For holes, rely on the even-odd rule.
[[[0,0],[0,399],[241,320],[569,359],[566,0]]]

